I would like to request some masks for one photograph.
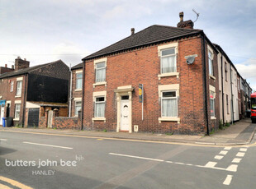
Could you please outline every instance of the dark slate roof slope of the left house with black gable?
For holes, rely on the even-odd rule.
[[[3,73],[3,74],[0,75],[0,79],[5,78],[5,77],[11,77],[11,76],[20,76],[20,75],[23,75],[23,74],[26,74],[26,73],[30,73],[31,71],[35,71],[36,69],[40,69],[41,67],[45,67],[45,66],[48,66],[48,65],[56,63],[56,62],[62,62],[62,60],[57,60],[55,62],[40,64],[40,65],[37,65],[35,67],[26,67],[26,68],[23,68],[21,70]]]

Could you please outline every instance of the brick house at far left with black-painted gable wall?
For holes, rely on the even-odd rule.
[[[0,125],[2,118],[12,118],[13,125],[38,126],[45,108],[68,110],[69,67],[61,60],[35,67],[17,58],[15,70],[0,75]],[[43,112],[42,112],[43,111]]]

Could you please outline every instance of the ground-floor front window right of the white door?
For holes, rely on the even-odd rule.
[[[164,118],[178,117],[178,99],[176,90],[161,92],[161,116]]]

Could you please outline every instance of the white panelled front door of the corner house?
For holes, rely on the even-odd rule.
[[[129,100],[121,100],[121,131],[129,131],[130,113],[129,113]]]

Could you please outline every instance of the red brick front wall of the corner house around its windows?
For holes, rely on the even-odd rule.
[[[84,129],[116,131],[117,103],[114,90],[118,86],[132,85],[135,88],[132,92],[132,127],[138,125],[139,131],[144,132],[173,131],[179,134],[206,132],[201,42],[200,37],[178,41],[178,77],[168,76],[159,80],[160,58],[157,45],[107,57],[107,86],[98,85],[93,88],[92,84],[95,80],[93,61],[86,62],[84,74]],[[195,58],[192,65],[187,65],[185,56],[192,54],[197,54],[197,58]],[[209,82],[207,81],[207,88],[209,88]],[[138,97],[138,85],[140,83],[144,84],[145,88],[143,121],[141,120],[141,104]],[[159,122],[161,102],[158,86],[170,84],[179,84],[178,118],[181,119],[180,123]],[[102,90],[107,90],[106,122],[92,122],[94,112],[92,93]],[[217,88],[216,91],[218,91]],[[208,103],[210,115],[209,99]]]

